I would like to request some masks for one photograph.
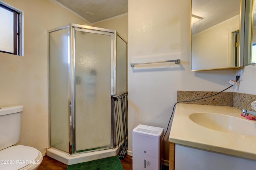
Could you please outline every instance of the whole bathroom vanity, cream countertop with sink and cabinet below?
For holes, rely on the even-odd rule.
[[[256,167],[256,121],[230,106],[177,104],[169,136],[169,170]]]

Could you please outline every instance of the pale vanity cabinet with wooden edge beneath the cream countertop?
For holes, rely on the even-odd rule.
[[[252,170],[256,166],[256,161],[248,158],[171,142],[170,146],[174,147],[170,149],[169,170]]]

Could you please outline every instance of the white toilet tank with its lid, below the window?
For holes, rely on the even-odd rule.
[[[23,106],[0,107],[0,150],[20,141]]]

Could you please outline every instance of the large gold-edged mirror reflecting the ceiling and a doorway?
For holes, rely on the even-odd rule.
[[[240,0],[192,0],[191,22],[191,70],[242,66]]]

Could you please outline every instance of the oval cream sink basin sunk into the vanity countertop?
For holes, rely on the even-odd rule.
[[[192,113],[190,120],[203,127],[238,135],[256,136],[256,123],[217,113]]]

